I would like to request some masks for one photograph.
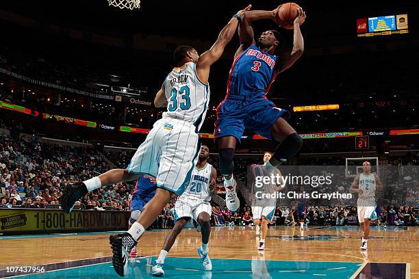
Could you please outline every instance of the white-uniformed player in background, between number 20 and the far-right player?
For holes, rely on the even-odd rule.
[[[264,164],[269,161],[272,155],[270,152],[265,152],[264,154]],[[264,165],[252,165],[251,166],[253,177],[256,179],[257,176],[265,176],[266,171],[264,170]],[[274,170],[275,176],[280,177],[280,185],[274,183],[263,184],[262,187],[258,187],[256,183],[253,183],[251,198],[252,198],[252,213],[253,213],[253,224],[256,226],[256,235],[259,234],[259,224],[262,220],[262,235],[260,236],[259,245],[257,246],[258,250],[265,249],[265,239],[268,234],[268,223],[272,221],[272,218],[275,214],[275,209],[277,208],[277,199],[276,198],[264,198],[260,196],[261,194],[275,194],[278,191],[279,187],[283,187],[283,180],[281,172],[277,168]],[[259,194],[258,194],[259,192]]]

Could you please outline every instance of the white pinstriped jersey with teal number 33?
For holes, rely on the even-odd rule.
[[[210,101],[210,85],[199,80],[194,62],[173,68],[164,81],[164,94],[168,104],[163,118],[191,122],[199,131]]]

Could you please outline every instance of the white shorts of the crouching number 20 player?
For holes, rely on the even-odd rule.
[[[175,203],[175,221],[181,217],[191,217],[198,221],[199,214],[203,212],[211,216],[212,207],[210,202],[201,198],[180,196]]]

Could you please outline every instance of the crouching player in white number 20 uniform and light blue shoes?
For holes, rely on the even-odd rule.
[[[212,270],[212,263],[208,257],[208,241],[211,232],[211,196],[215,194],[215,185],[217,172],[212,165],[207,163],[210,156],[210,149],[207,146],[201,147],[199,152],[198,163],[196,163],[192,171],[192,179],[186,187],[183,194],[175,203],[175,226],[166,237],[163,249],[155,261],[151,274],[153,276],[164,276],[164,259],[168,254],[173,243],[175,243],[177,235],[181,233],[182,228],[188,223],[190,218],[199,224],[201,228],[202,244],[198,248],[198,254],[201,257],[201,263],[205,270]]]

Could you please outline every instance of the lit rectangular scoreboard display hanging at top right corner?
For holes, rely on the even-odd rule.
[[[385,36],[409,33],[407,14],[357,19],[357,36]]]

